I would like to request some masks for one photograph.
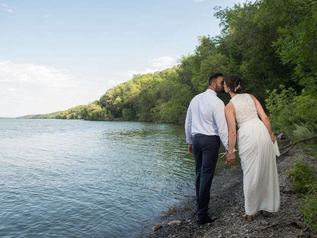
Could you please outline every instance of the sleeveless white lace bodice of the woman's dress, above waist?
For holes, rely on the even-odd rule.
[[[238,124],[258,117],[256,105],[249,94],[237,94],[230,100],[230,102],[233,103],[236,111],[236,120]]]

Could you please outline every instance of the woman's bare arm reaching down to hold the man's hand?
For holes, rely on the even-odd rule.
[[[234,145],[236,144],[236,116],[234,106],[231,102],[227,104],[224,109],[224,113],[226,116],[227,124],[228,124],[228,161],[230,164],[234,163]]]

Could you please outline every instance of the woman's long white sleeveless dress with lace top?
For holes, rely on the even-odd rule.
[[[278,175],[273,143],[249,94],[231,100],[238,124],[237,142],[243,170],[245,211],[277,212],[280,205]]]

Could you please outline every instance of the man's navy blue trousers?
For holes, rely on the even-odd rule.
[[[196,169],[196,207],[197,218],[208,215],[210,189],[216,168],[220,138],[216,135],[193,136],[193,150]]]

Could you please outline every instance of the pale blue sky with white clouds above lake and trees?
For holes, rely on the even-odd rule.
[[[64,111],[173,67],[245,0],[0,0],[0,117]]]

